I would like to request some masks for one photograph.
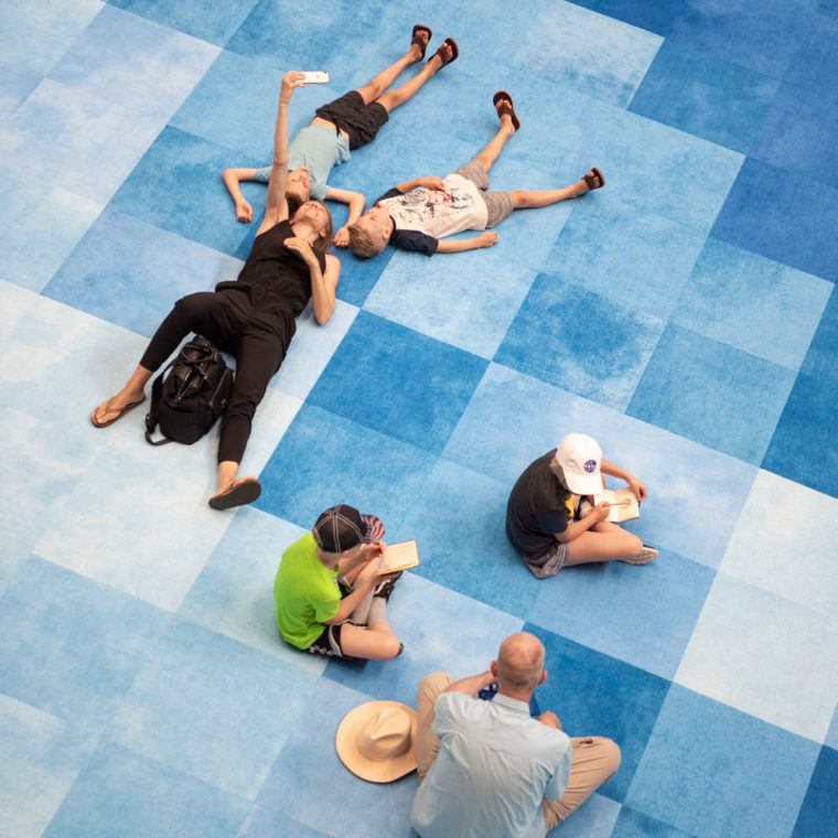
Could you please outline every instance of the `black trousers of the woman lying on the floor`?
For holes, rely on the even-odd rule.
[[[222,419],[218,462],[240,463],[250,437],[250,423],[268,383],[286,357],[293,334],[281,316],[260,316],[246,291],[203,291],[178,300],[151,339],[140,366],[157,372],[195,332],[236,358],[236,379]],[[286,337],[281,332],[289,332]]]

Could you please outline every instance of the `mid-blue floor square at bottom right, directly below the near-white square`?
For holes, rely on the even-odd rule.
[[[781,838],[794,827],[818,750],[673,685],[626,803],[697,838]],[[684,782],[697,773],[710,783]]]

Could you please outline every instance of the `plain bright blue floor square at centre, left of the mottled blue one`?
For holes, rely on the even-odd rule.
[[[440,453],[487,365],[476,355],[361,311],[309,401]]]

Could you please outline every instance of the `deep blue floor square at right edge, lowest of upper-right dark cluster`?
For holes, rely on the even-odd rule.
[[[746,159],[711,235],[835,282],[836,229],[837,189]]]

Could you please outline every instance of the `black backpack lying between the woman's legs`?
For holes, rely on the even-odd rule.
[[[232,389],[233,370],[206,337],[196,335],[151,386],[146,441],[152,445],[197,442],[224,412]],[[158,423],[165,439],[154,441],[151,434]]]

